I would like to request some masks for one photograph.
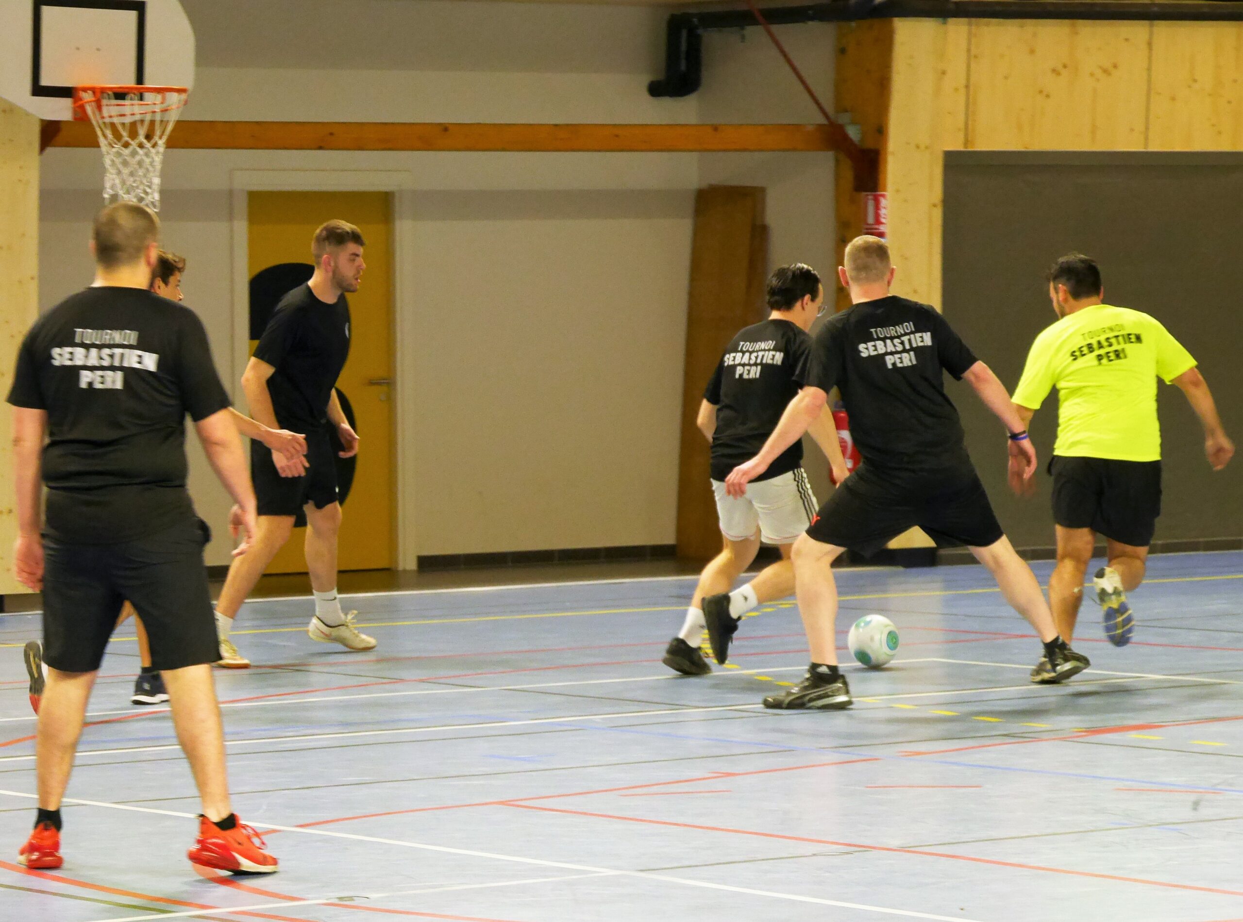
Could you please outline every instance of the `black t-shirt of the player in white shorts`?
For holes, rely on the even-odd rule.
[[[704,399],[716,404],[712,434],[712,480],[725,480],[753,459],[773,434],[786,406],[798,394],[794,373],[807,358],[809,337],[791,321],[764,321],[741,331],[730,342],[712,374]],[[797,441],[757,480],[793,471],[803,462]]]

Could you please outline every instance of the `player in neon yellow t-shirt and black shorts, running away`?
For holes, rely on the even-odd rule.
[[[1094,588],[1105,636],[1130,642],[1135,618],[1126,593],[1144,580],[1149,545],[1161,512],[1161,427],[1157,378],[1178,386],[1204,426],[1204,454],[1214,471],[1234,445],[1226,436],[1196,360],[1154,317],[1104,303],[1100,268],[1071,253],[1049,272],[1058,322],[1035,338],[1014,408],[1024,425],[1058,389],[1058,442],[1049,465],[1058,564],[1049,601],[1068,642],[1083,598],[1096,534],[1109,543],[1109,565]],[[1016,477],[1011,482],[1018,486]]]

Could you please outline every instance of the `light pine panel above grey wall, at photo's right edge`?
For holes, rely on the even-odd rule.
[[[1243,24],[1155,24],[1151,82],[1150,149],[1243,149]]]

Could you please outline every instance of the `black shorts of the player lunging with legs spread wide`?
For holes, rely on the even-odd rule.
[[[1004,537],[970,463],[917,473],[880,471],[865,463],[820,507],[807,533],[824,544],[870,557],[915,526],[940,548],[986,548]]]

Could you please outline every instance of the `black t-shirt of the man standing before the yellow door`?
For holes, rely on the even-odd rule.
[[[291,291],[267,322],[255,358],[276,372],[267,393],[282,429],[307,432],[328,422],[328,401],[349,358],[349,304],[329,304],[310,285]]]

